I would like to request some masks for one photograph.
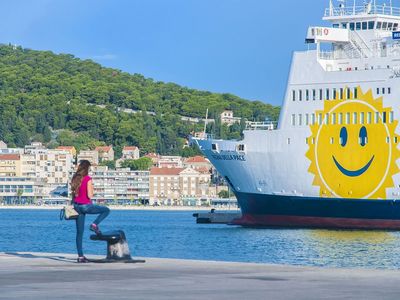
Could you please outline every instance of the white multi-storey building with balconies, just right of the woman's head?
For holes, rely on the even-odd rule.
[[[93,199],[97,202],[133,204],[149,203],[149,171],[132,171],[129,168],[92,168]]]

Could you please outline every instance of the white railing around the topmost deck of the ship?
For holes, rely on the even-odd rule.
[[[400,17],[400,8],[390,5],[344,6],[325,9],[325,17],[354,16],[354,15],[388,15]]]

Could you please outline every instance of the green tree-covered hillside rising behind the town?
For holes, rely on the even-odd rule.
[[[96,105],[105,105],[101,108]],[[118,108],[154,112],[127,114]],[[73,55],[0,45],[0,139],[9,146],[32,140],[78,149],[137,145],[143,152],[180,154],[184,138],[202,124],[180,115],[215,118],[224,109],[249,120],[276,120],[278,107],[181,87],[104,68]],[[223,138],[237,138],[243,124],[209,125]]]

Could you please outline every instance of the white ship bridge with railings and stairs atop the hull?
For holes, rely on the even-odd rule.
[[[400,7],[392,1],[357,2],[329,1],[323,20],[331,26],[308,29],[306,43],[317,45],[318,60],[326,71],[339,71],[337,60],[400,58]]]

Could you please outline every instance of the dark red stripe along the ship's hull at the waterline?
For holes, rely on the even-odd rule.
[[[342,228],[342,229],[400,229],[400,220],[327,218],[281,215],[245,214],[234,225],[265,227]]]

